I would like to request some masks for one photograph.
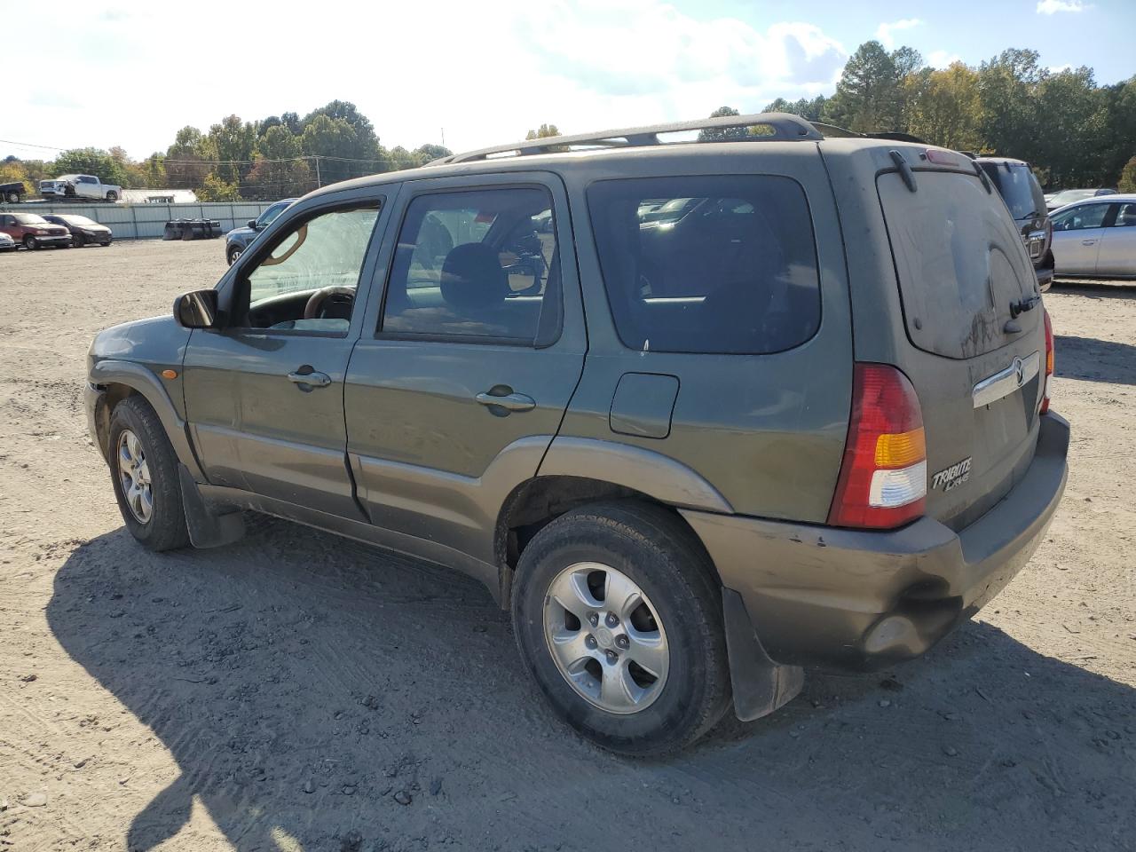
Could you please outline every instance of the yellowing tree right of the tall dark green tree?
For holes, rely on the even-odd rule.
[[[977,151],[982,148],[982,99],[978,73],[962,62],[907,75],[909,133],[944,148]]]

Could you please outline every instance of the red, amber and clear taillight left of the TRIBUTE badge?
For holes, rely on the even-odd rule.
[[[852,416],[828,523],[892,529],[924,513],[927,441],[919,398],[895,367],[858,364]]]

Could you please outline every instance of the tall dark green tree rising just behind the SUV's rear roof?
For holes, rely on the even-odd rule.
[[[911,48],[888,53],[878,41],[864,42],[844,65],[824,120],[857,133],[904,130],[903,80],[921,65]]]

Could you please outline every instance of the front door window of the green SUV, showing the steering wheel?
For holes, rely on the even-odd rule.
[[[237,325],[346,334],[378,206],[333,210],[279,239],[243,281]]]

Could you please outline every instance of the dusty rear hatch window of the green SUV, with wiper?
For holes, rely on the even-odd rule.
[[[1010,302],[1036,290],[1021,235],[976,175],[917,179],[918,192],[895,173],[877,181],[908,336],[949,358],[993,351],[1006,342]]]

